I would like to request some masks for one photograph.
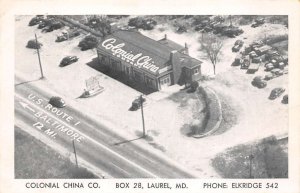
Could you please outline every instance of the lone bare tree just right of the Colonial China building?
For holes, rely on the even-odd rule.
[[[214,74],[216,74],[218,55],[223,46],[222,40],[213,34],[202,34],[200,43],[202,49],[206,52],[208,58],[210,59],[213,65]]]

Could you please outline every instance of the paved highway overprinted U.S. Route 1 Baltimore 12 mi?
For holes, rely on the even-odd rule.
[[[67,149],[74,140],[81,159],[114,178],[193,178],[193,175],[157,154],[118,136],[76,108],[57,109],[51,95],[31,83],[15,85],[15,119]]]

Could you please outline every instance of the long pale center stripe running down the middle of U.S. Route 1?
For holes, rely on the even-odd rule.
[[[21,95],[15,93],[15,96],[21,100],[25,100],[27,101],[28,103],[30,103],[31,101],[29,101],[27,98],[23,98]],[[61,124],[64,124],[64,125],[68,125],[68,123],[64,123],[63,121],[61,121],[60,119],[57,119],[54,115],[52,115],[51,113],[49,113],[48,111],[46,111],[45,109],[41,108],[40,106],[37,106],[37,105],[33,105],[35,106],[37,109],[39,109],[40,111],[43,111],[44,113],[48,114],[48,116],[52,117],[53,119],[56,119],[57,121],[59,121]],[[141,166],[137,165],[136,163],[126,159],[125,157],[121,156],[120,154],[116,153],[115,151],[109,149],[108,147],[106,147],[105,145],[99,143],[98,141],[92,139],[91,137],[83,134],[82,132],[80,132],[79,130],[77,130],[76,128],[74,128],[72,125],[69,125],[70,128],[72,128],[74,131],[76,131],[77,133],[79,133],[80,135],[84,136],[86,139],[89,139],[90,141],[94,142],[95,144],[97,144],[98,146],[102,147],[103,149],[105,149],[106,151],[112,153],[113,155],[121,158],[122,160],[126,161],[127,163],[129,163],[130,165],[140,169],[141,171],[145,172],[146,174],[154,177],[154,178],[158,178],[158,176],[156,176],[155,174],[151,173],[150,171],[142,168]]]

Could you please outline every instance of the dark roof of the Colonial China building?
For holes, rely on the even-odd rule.
[[[122,49],[121,52],[123,52],[124,56],[137,56],[135,58],[135,62],[138,60],[138,58],[148,57],[148,59],[150,59],[149,63],[155,65],[157,67],[157,70],[151,70],[151,68],[147,69],[144,67],[140,68],[141,70],[150,72],[154,75],[158,75],[159,70],[164,69],[165,67],[170,65],[171,51],[180,51],[184,48],[183,46],[180,46],[179,44],[171,40],[162,39],[159,41],[155,41],[137,31],[118,30],[106,36],[105,39],[103,39],[98,45],[98,49],[107,52],[110,55],[115,55],[116,57],[121,58],[123,61],[131,63],[130,60],[120,56],[120,53],[113,53],[113,47],[116,47],[117,45],[119,45],[118,48]],[[180,53],[180,56],[182,66],[192,68],[196,65],[199,66],[201,64],[200,61],[186,54]],[[133,63],[131,64],[135,65]]]

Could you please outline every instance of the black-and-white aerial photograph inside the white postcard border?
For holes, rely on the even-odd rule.
[[[288,15],[14,28],[15,179],[289,177]]]

